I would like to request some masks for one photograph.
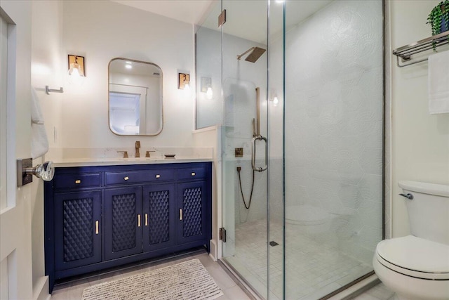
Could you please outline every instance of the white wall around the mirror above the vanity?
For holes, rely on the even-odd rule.
[[[193,95],[177,89],[177,73],[193,81],[193,27],[185,22],[111,1],[63,1],[62,60],[85,57],[81,87],[65,80],[59,147],[188,147],[194,129]],[[108,128],[107,65],[112,58],[156,63],[163,73],[163,131],[154,137],[121,137]],[[67,72],[64,66],[62,77]],[[192,83],[194,84],[194,82]]]

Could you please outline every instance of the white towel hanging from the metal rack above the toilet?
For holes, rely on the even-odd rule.
[[[429,56],[429,113],[449,112],[449,51]]]

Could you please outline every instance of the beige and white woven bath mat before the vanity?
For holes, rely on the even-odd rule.
[[[127,278],[86,287],[82,300],[217,299],[223,292],[203,267],[192,259]]]

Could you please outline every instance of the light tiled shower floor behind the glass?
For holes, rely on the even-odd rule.
[[[266,221],[236,226],[235,255],[227,258],[262,296],[267,292]],[[282,299],[282,226],[272,222],[269,247],[270,299]],[[372,271],[368,263],[340,253],[305,235],[286,232],[286,299],[319,299]]]

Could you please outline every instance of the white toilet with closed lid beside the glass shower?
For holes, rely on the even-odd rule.
[[[396,299],[449,299],[449,185],[399,181],[410,233],[377,244],[373,267]]]

